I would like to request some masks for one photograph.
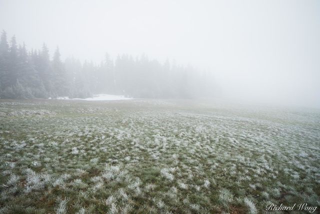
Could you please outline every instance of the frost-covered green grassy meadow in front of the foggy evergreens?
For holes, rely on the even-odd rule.
[[[320,205],[319,111],[0,101],[0,213],[270,213],[271,203]]]

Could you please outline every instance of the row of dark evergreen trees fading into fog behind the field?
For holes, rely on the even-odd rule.
[[[113,61],[108,54],[100,64],[74,58],[52,59],[43,44],[41,50],[27,51],[15,36],[0,37],[0,98],[86,98],[106,93],[134,98],[191,98],[213,93],[212,76],[191,66],[161,64],[142,55],[133,59],[123,54]]]

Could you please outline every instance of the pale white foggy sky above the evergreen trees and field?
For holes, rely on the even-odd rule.
[[[320,1],[0,0],[0,29],[63,58],[145,53],[209,69],[233,99],[320,106]]]

